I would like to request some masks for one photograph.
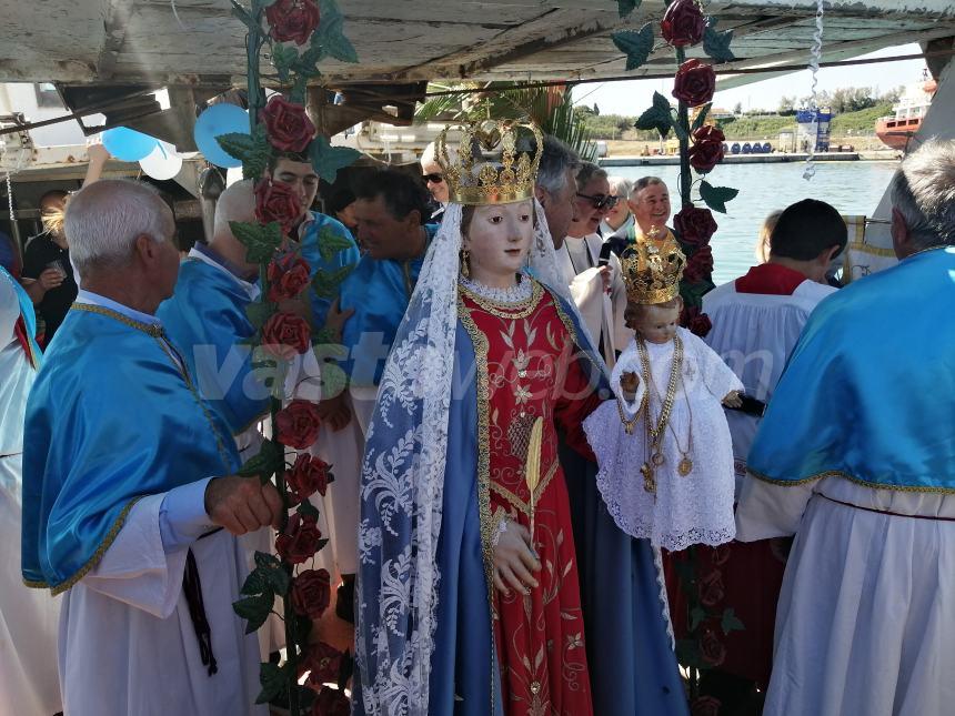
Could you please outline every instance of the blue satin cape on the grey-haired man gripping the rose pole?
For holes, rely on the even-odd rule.
[[[27,404],[22,572],[57,594],[96,567],[137,500],[239,455],[153,326],[73,304]]]

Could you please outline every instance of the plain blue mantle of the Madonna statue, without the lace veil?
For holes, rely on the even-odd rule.
[[[553,295],[553,294],[552,294]],[[554,295],[571,317],[577,345],[591,356],[574,311]],[[481,520],[478,506],[478,395],[471,336],[459,322],[455,365],[444,472],[443,515],[438,545],[441,574],[438,595],[438,627],[429,682],[431,716],[487,716],[502,714],[494,636],[491,629],[487,582],[481,552]],[[587,363],[584,361],[584,363]],[[593,366],[593,357],[590,364]],[[587,370],[586,366],[585,371]],[[603,379],[599,387],[606,390]],[[394,442],[384,424],[376,424],[371,440]],[[566,453],[566,460],[564,460]],[[685,716],[686,700],[676,657],[663,619],[653,553],[645,539],[621,532],[606,512],[596,488],[596,465],[566,448],[562,466],[570,488],[577,554],[587,564],[577,565],[586,619],[587,660],[594,714],[600,716]],[[574,471],[572,474],[570,471]],[[369,507],[369,506],[366,506]],[[371,505],[373,507],[373,504]],[[373,510],[363,518],[375,524]],[[410,541],[382,531],[385,539]],[[361,578],[380,584],[380,565],[362,562]],[[363,594],[369,611],[378,614],[379,595]],[[358,634],[374,651],[371,633]],[[361,679],[355,678],[353,715],[365,712]]]

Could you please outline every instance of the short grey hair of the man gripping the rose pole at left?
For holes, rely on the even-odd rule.
[[[82,278],[99,268],[129,263],[137,239],[171,241],[172,212],[149,184],[104,179],[73,194],[67,208],[70,258]]]

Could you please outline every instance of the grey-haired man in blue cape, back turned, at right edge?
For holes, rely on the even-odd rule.
[[[768,716],[955,703],[955,142],[892,203],[899,263],[818,304],[748,456],[737,537],[796,535]]]

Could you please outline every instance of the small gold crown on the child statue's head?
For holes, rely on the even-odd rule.
[[[640,236],[620,259],[626,300],[651,305],[665,303],[680,293],[680,279],[686,256],[668,234],[663,242]]]

